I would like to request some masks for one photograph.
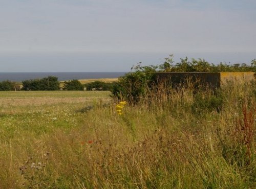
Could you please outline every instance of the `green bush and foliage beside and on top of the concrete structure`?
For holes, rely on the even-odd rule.
[[[185,57],[181,58],[180,62],[174,63],[173,55],[169,55],[160,65],[141,66],[139,62],[132,67],[132,71],[120,77],[114,84],[112,90],[114,98],[136,103],[139,99],[144,99],[150,93],[156,92],[153,91],[158,87],[158,80],[154,74],[156,72],[256,72],[256,61],[252,60],[251,66],[245,63],[228,65],[222,62],[215,65],[201,58],[198,60],[193,58],[189,61]],[[210,102],[206,100],[210,103],[207,106],[215,107],[221,103],[218,98],[214,98],[212,97]],[[215,108],[219,110],[219,107]]]

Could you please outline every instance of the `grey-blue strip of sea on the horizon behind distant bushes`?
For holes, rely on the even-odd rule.
[[[73,79],[101,79],[101,78],[118,78],[125,75],[126,72],[28,72],[28,73],[0,73],[0,81],[21,82],[30,79],[41,79],[48,76],[55,76],[59,81]]]

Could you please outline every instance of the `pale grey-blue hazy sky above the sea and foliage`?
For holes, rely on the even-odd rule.
[[[255,0],[0,0],[0,72],[256,58]]]

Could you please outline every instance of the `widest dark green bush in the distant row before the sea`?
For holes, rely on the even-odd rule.
[[[58,78],[48,76],[47,78],[25,80],[22,82],[23,90],[58,90]]]

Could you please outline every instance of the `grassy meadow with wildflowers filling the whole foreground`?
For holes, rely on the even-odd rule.
[[[255,188],[255,86],[0,92],[0,188]]]

